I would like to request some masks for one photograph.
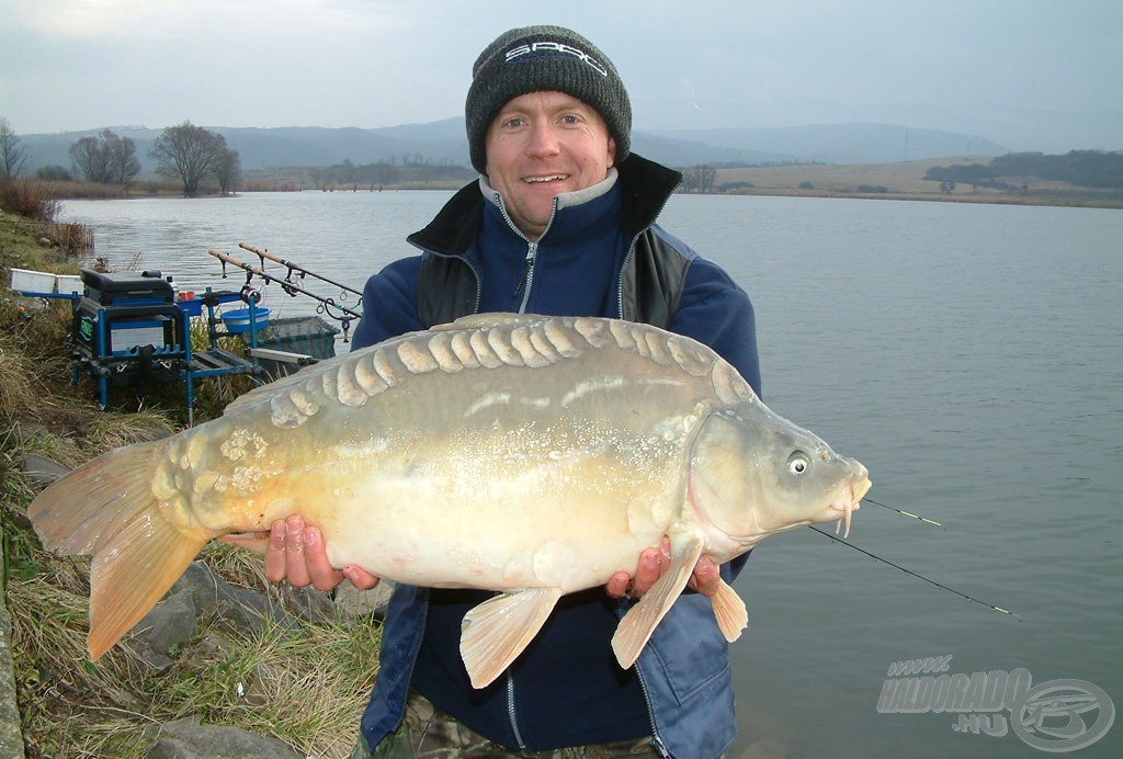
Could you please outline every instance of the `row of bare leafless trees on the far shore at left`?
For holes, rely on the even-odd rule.
[[[70,146],[71,168],[44,166],[36,179],[69,181],[81,179],[98,184],[129,186],[140,173],[136,143],[111,129],[95,137],[83,137]],[[167,127],[152,145],[148,157],[157,162],[156,173],[183,183],[183,194],[193,198],[204,179],[213,179],[223,195],[241,182],[241,161],[237,150],[227,147],[222,135],[197,127],[190,121]],[[0,179],[16,179],[26,156],[19,136],[0,117]]]

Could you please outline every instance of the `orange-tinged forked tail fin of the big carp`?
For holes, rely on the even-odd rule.
[[[162,441],[110,451],[43,491],[28,507],[44,547],[92,554],[90,656],[98,659],[156,605],[211,534],[165,516],[152,491]]]

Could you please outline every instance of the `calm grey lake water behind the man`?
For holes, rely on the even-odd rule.
[[[143,254],[181,290],[240,287],[207,255],[257,264],[240,241],[362,290],[449,194],[76,201],[62,218],[95,227],[112,267]],[[736,584],[730,756],[1123,756],[1123,724],[1104,734],[1123,708],[1123,212],[676,195],[661,221],[751,296],[766,402],[866,464],[870,497],[943,525],[865,504],[849,541],[985,602],[810,529],[766,541]]]

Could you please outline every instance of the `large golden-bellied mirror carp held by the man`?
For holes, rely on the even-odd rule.
[[[631,666],[701,556],[844,519],[857,461],[766,408],[716,354],[624,321],[482,314],[308,367],[213,421],[110,451],[29,507],[44,545],[92,554],[100,657],[218,536],[302,514],[337,567],[399,583],[502,591],[460,651],[497,677],[558,598],[636,567],[669,536],[670,568],[621,621]],[[734,640],[748,616],[712,596]]]

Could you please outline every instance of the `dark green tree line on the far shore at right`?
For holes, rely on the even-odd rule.
[[[925,180],[941,184],[961,182],[1001,190],[1013,189],[1003,179],[1030,177],[1051,182],[1068,182],[1081,188],[1123,189],[1123,153],[1071,150],[1065,155],[1043,153],[1010,153],[993,158],[989,164],[956,164],[933,166]]]

